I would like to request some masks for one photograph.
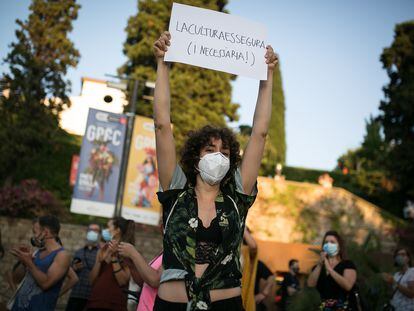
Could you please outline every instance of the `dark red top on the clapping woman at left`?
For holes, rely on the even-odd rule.
[[[87,308],[102,308],[113,311],[127,311],[127,294],[122,290],[113,274],[112,264],[102,263],[98,278],[92,286]]]

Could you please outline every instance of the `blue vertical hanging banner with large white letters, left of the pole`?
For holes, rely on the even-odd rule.
[[[70,211],[113,217],[127,118],[89,109]]]

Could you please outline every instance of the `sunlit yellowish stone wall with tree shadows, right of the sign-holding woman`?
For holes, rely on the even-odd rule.
[[[247,225],[259,240],[319,245],[334,229],[359,244],[369,238],[385,252],[395,247],[389,233],[402,221],[344,189],[266,177],[258,188]]]

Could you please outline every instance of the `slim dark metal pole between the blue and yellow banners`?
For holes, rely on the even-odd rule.
[[[119,176],[119,184],[117,190],[117,200],[115,205],[115,215],[122,216],[122,200],[124,198],[124,189],[125,189],[125,178],[126,178],[126,170],[128,168],[128,159],[129,159],[129,150],[131,149],[131,139],[132,139],[132,131],[134,128],[134,121],[135,121],[135,111],[136,111],[136,103],[138,98],[138,86],[139,81],[135,79],[134,81],[134,89],[132,91],[132,96],[130,97],[129,105],[130,105],[130,112],[127,112],[127,129],[126,129],[126,138],[124,143],[124,149],[122,154],[122,162],[121,162],[121,172]]]

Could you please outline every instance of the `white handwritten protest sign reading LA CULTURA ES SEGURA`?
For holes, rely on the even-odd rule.
[[[174,3],[165,61],[267,79],[267,31],[241,17]]]

